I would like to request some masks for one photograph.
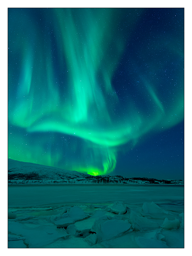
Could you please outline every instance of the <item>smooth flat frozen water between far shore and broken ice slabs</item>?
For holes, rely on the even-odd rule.
[[[127,205],[154,202],[163,208],[184,211],[183,185],[12,185],[8,207],[52,204],[113,203]]]

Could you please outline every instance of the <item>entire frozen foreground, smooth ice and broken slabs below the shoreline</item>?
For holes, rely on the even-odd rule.
[[[176,185],[12,185],[8,248],[184,248],[183,194]]]

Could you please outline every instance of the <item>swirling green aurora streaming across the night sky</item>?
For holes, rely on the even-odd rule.
[[[9,122],[21,128],[22,136],[19,132],[15,137],[9,134],[8,155],[19,161],[91,175],[113,172],[120,146],[126,143],[134,146],[144,134],[165,130],[183,120],[183,89],[175,92],[174,100],[168,97],[164,100],[156,83],[143,79],[141,87],[148,112],[132,103],[130,96],[129,107],[117,115],[121,100],[112,86],[112,79],[129,33],[116,34],[116,11],[83,8],[82,16],[73,15],[67,8],[50,12],[54,18],[54,47],[60,56],[57,64],[62,79],[58,79],[60,74],[55,72],[54,50],[49,38],[42,38],[41,31],[31,25],[36,36],[34,41],[26,39],[25,46],[18,44],[18,51],[22,53],[20,78],[17,97],[9,103]],[[75,12],[78,14],[78,10]],[[139,19],[135,18],[138,12],[141,13],[132,10],[128,31],[132,31]],[[13,71],[9,72],[10,77],[13,76]],[[10,88],[14,83],[11,79]],[[179,83],[183,88],[182,79]],[[55,149],[56,133],[60,134],[58,138],[67,140],[66,136],[73,136],[74,140],[70,146],[60,144]],[[38,136],[33,138],[34,134]],[[71,154],[77,151],[76,141],[82,143],[81,153],[71,160],[65,159],[65,150]],[[53,146],[48,148],[48,144],[54,145],[54,150]]]

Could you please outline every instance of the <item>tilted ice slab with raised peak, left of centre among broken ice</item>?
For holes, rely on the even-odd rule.
[[[85,215],[84,211],[78,206],[74,206],[69,212],[65,212],[62,215],[51,216],[50,220],[55,223],[58,228],[66,228],[77,220],[83,220],[85,218],[87,218],[87,215]]]

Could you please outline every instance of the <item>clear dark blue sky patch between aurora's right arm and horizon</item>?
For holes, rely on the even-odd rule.
[[[145,138],[129,153],[122,154],[119,175],[184,180],[184,122]],[[127,176],[127,177],[128,177]]]

